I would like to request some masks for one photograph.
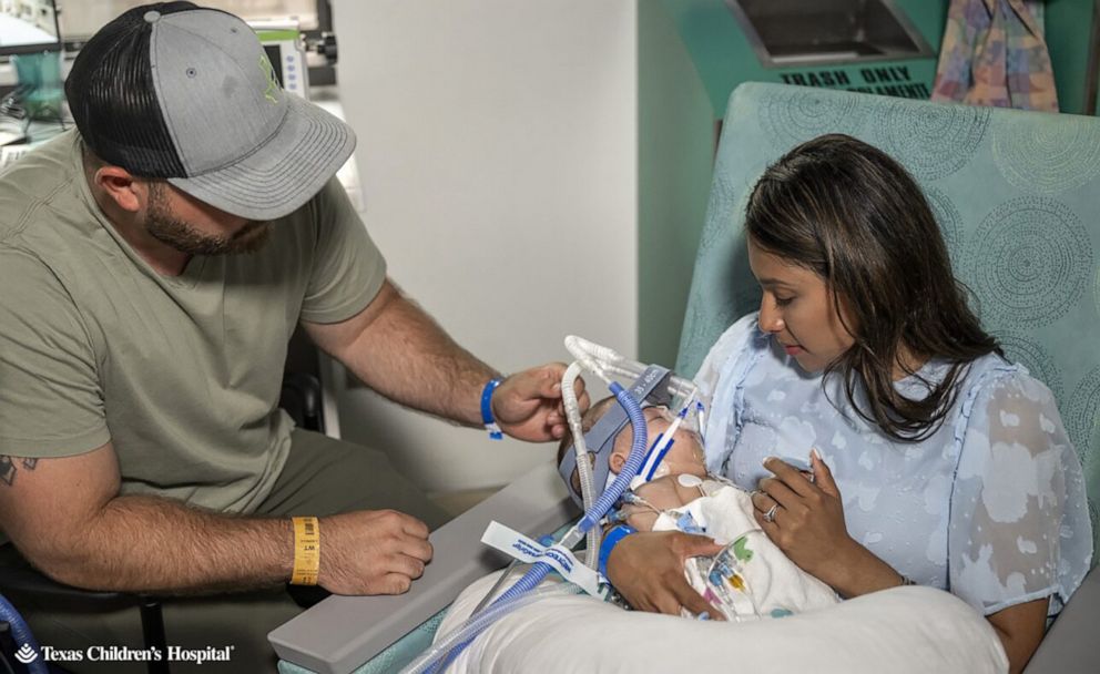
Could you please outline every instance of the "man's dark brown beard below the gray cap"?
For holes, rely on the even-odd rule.
[[[249,221],[228,236],[203,234],[169,210],[163,185],[151,185],[145,231],[150,236],[187,255],[236,255],[255,253],[271,236],[271,222]]]

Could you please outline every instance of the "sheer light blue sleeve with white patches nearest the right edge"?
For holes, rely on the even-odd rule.
[[[1046,386],[1022,371],[975,386],[950,502],[949,589],[986,615],[1049,596],[1055,615],[1092,555],[1080,461]]]

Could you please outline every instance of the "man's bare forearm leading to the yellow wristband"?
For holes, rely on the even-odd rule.
[[[94,590],[207,593],[269,586],[291,578],[289,519],[211,513],[176,501],[112,499],[47,572]]]

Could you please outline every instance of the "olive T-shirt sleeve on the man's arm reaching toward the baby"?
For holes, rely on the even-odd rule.
[[[302,318],[339,323],[370,304],[386,280],[386,259],[335,177],[308,208],[316,218],[317,247]]]

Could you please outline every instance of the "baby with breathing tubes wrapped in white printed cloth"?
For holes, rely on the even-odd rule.
[[[607,398],[592,406],[582,418],[588,431],[617,405]],[[672,425],[663,407],[648,407],[645,415],[649,443]],[[614,439],[608,462],[618,474],[630,455],[633,430],[628,423]],[[567,435],[558,451],[561,464],[567,451],[573,451]],[[595,455],[589,453],[594,460]],[[839,601],[833,590],[801,570],[767,538],[753,519],[748,492],[724,478],[706,472],[699,435],[683,427],[673,435],[673,443],[650,481],[628,490],[619,510],[609,513],[613,522],[625,522],[638,531],[680,530],[705,534],[725,548],[713,558],[692,558],[684,574],[695,589],[726,620],[746,621],[782,617]],[[580,492],[577,471],[570,487]],[[690,615],[684,610],[684,615]]]

